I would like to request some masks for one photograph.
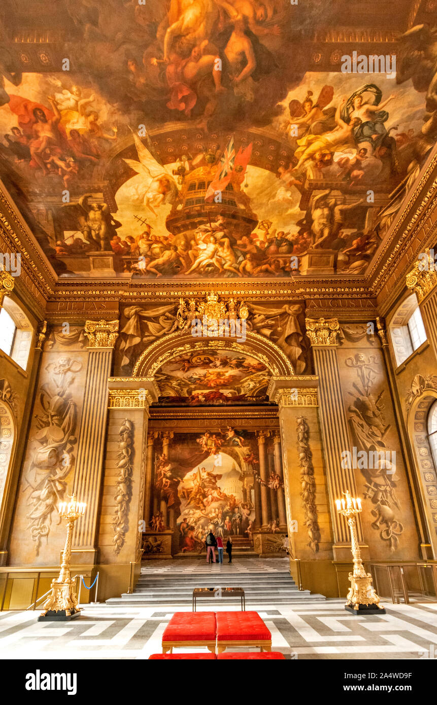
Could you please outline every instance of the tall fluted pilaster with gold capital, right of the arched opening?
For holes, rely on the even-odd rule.
[[[337,361],[339,331],[340,324],[336,318],[306,319],[306,334],[311,341],[314,366],[319,378],[321,430],[337,558],[342,557],[344,549],[349,544],[349,529],[345,517],[335,508],[335,499],[341,497],[342,492],[349,488],[352,496],[357,495],[354,471],[341,467],[342,451],[350,450],[352,443],[347,429]],[[358,521],[357,530],[359,540],[362,541],[361,522]]]

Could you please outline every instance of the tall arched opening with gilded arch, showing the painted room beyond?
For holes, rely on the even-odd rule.
[[[277,448],[278,409],[268,396],[273,377],[294,377],[292,364],[258,333],[247,333],[243,345],[217,337],[196,341],[191,333],[181,331],[140,355],[131,380],[138,379],[138,389],[146,380],[153,381],[159,396],[149,409],[148,453],[153,453],[153,460],[146,477],[151,489],[145,489],[144,510],[146,532],[162,534],[159,543],[157,536],[150,537],[152,555],[169,552],[170,537],[164,540],[165,532],[172,534],[173,555],[191,553],[197,545],[193,539],[199,541],[211,523],[224,532],[228,516],[231,531],[250,541],[250,546],[253,525],[258,532],[272,534],[269,552],[280,554],[287,512],[282,453]],[[155,436],[152,441],[150,434]],[[220,474],[214,464],[228,457],[234,458],[235,467],[227,472],[241,476],[237,498],[211,479]],[[186,477],[194,479],[196,473],[197,490],[190,486],[188,491]],[[260,541],[256,545],[261,546]]]

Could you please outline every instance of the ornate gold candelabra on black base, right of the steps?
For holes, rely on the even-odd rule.
[[[351,550],[354,558],[354,571],[349,573],[351,586],[347,593],[345,609],[357,615],[359,612],[366,614],[385,614],[385,609],[379,604],[379,597],[373,588],[371,574],[364,570],[359,550],[357,519],[361,512],[361,499],[351,497],[349,491],[344,492],[345,498],[336,499],[337,512],[347,518],[351,535]]]

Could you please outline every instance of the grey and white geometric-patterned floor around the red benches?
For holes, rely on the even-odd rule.
[[[251,609],[258,611],[272,632],[272,649],[282,651],[287,659],[437,656],[436,603],[384,606],[387,614],[362,618],[347,613],[344,600],[337,599]],[[238,609],[230,604],[215,607],[215,611]],[[200,610],[208,606],[198,606]],[[165,606],[87,605],[70,623],[38,623],[39,611],[3,612],[0,658],[145,659],[162,651],[162,632],[173,612],[174,608],[167,611]]]

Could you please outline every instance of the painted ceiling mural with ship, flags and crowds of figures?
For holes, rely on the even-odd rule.
[[[59,274],[366,270],[435,142],[431,30],[396,75],[316,72],[289,0],[57,0],[70,70],[37,72],[11,49],[33,5],[3,10],[1,178]]]

